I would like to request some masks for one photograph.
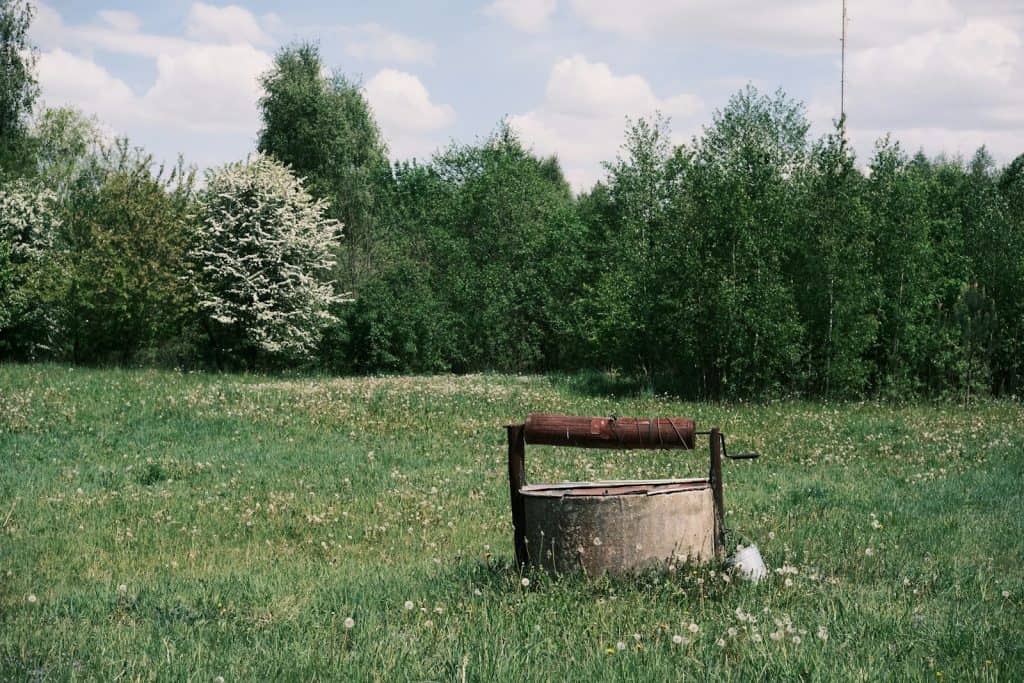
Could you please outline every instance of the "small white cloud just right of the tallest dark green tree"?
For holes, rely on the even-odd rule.
[[[395,157],[429,155],[440,141],[437,131],[455,123],[455,110],[431,101],[426,86],[412,74],[384,69],[370,79],[365,92]]]

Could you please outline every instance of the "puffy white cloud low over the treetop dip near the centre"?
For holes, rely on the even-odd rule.
[[[640,76],[616,75],[574,55],[554,65],[540,106],[509,123],[538,153],[558,155],[569,181],[583,189],[601,177],[601,162],[614,158],[627,119],[655,112],[671,117],[681,140],[695,128],[703,102],[690,93],[659,97]]]

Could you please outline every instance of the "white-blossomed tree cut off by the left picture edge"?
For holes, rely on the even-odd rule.
[[[56,331],[54,203],[53,193],[24,181],[0,186],[0,354],[34,355]]]

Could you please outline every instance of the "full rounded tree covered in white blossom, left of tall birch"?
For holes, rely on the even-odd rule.
[[[344,300],[327,279],[340,223],[264,155],[210,172],[200,206],[194,282],[215,345],[250,366],[259,354],[309,356]]]

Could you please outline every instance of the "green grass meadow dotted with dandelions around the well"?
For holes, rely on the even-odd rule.
[[[531,411],[693,417],[760,451],[724,465],[726,523],[770,579],[523,586],[503,425]],[[706,468],[527,453],[535,480]],[[1019,402],[0,366],[0,524],[3,680],[1024,677]]]

